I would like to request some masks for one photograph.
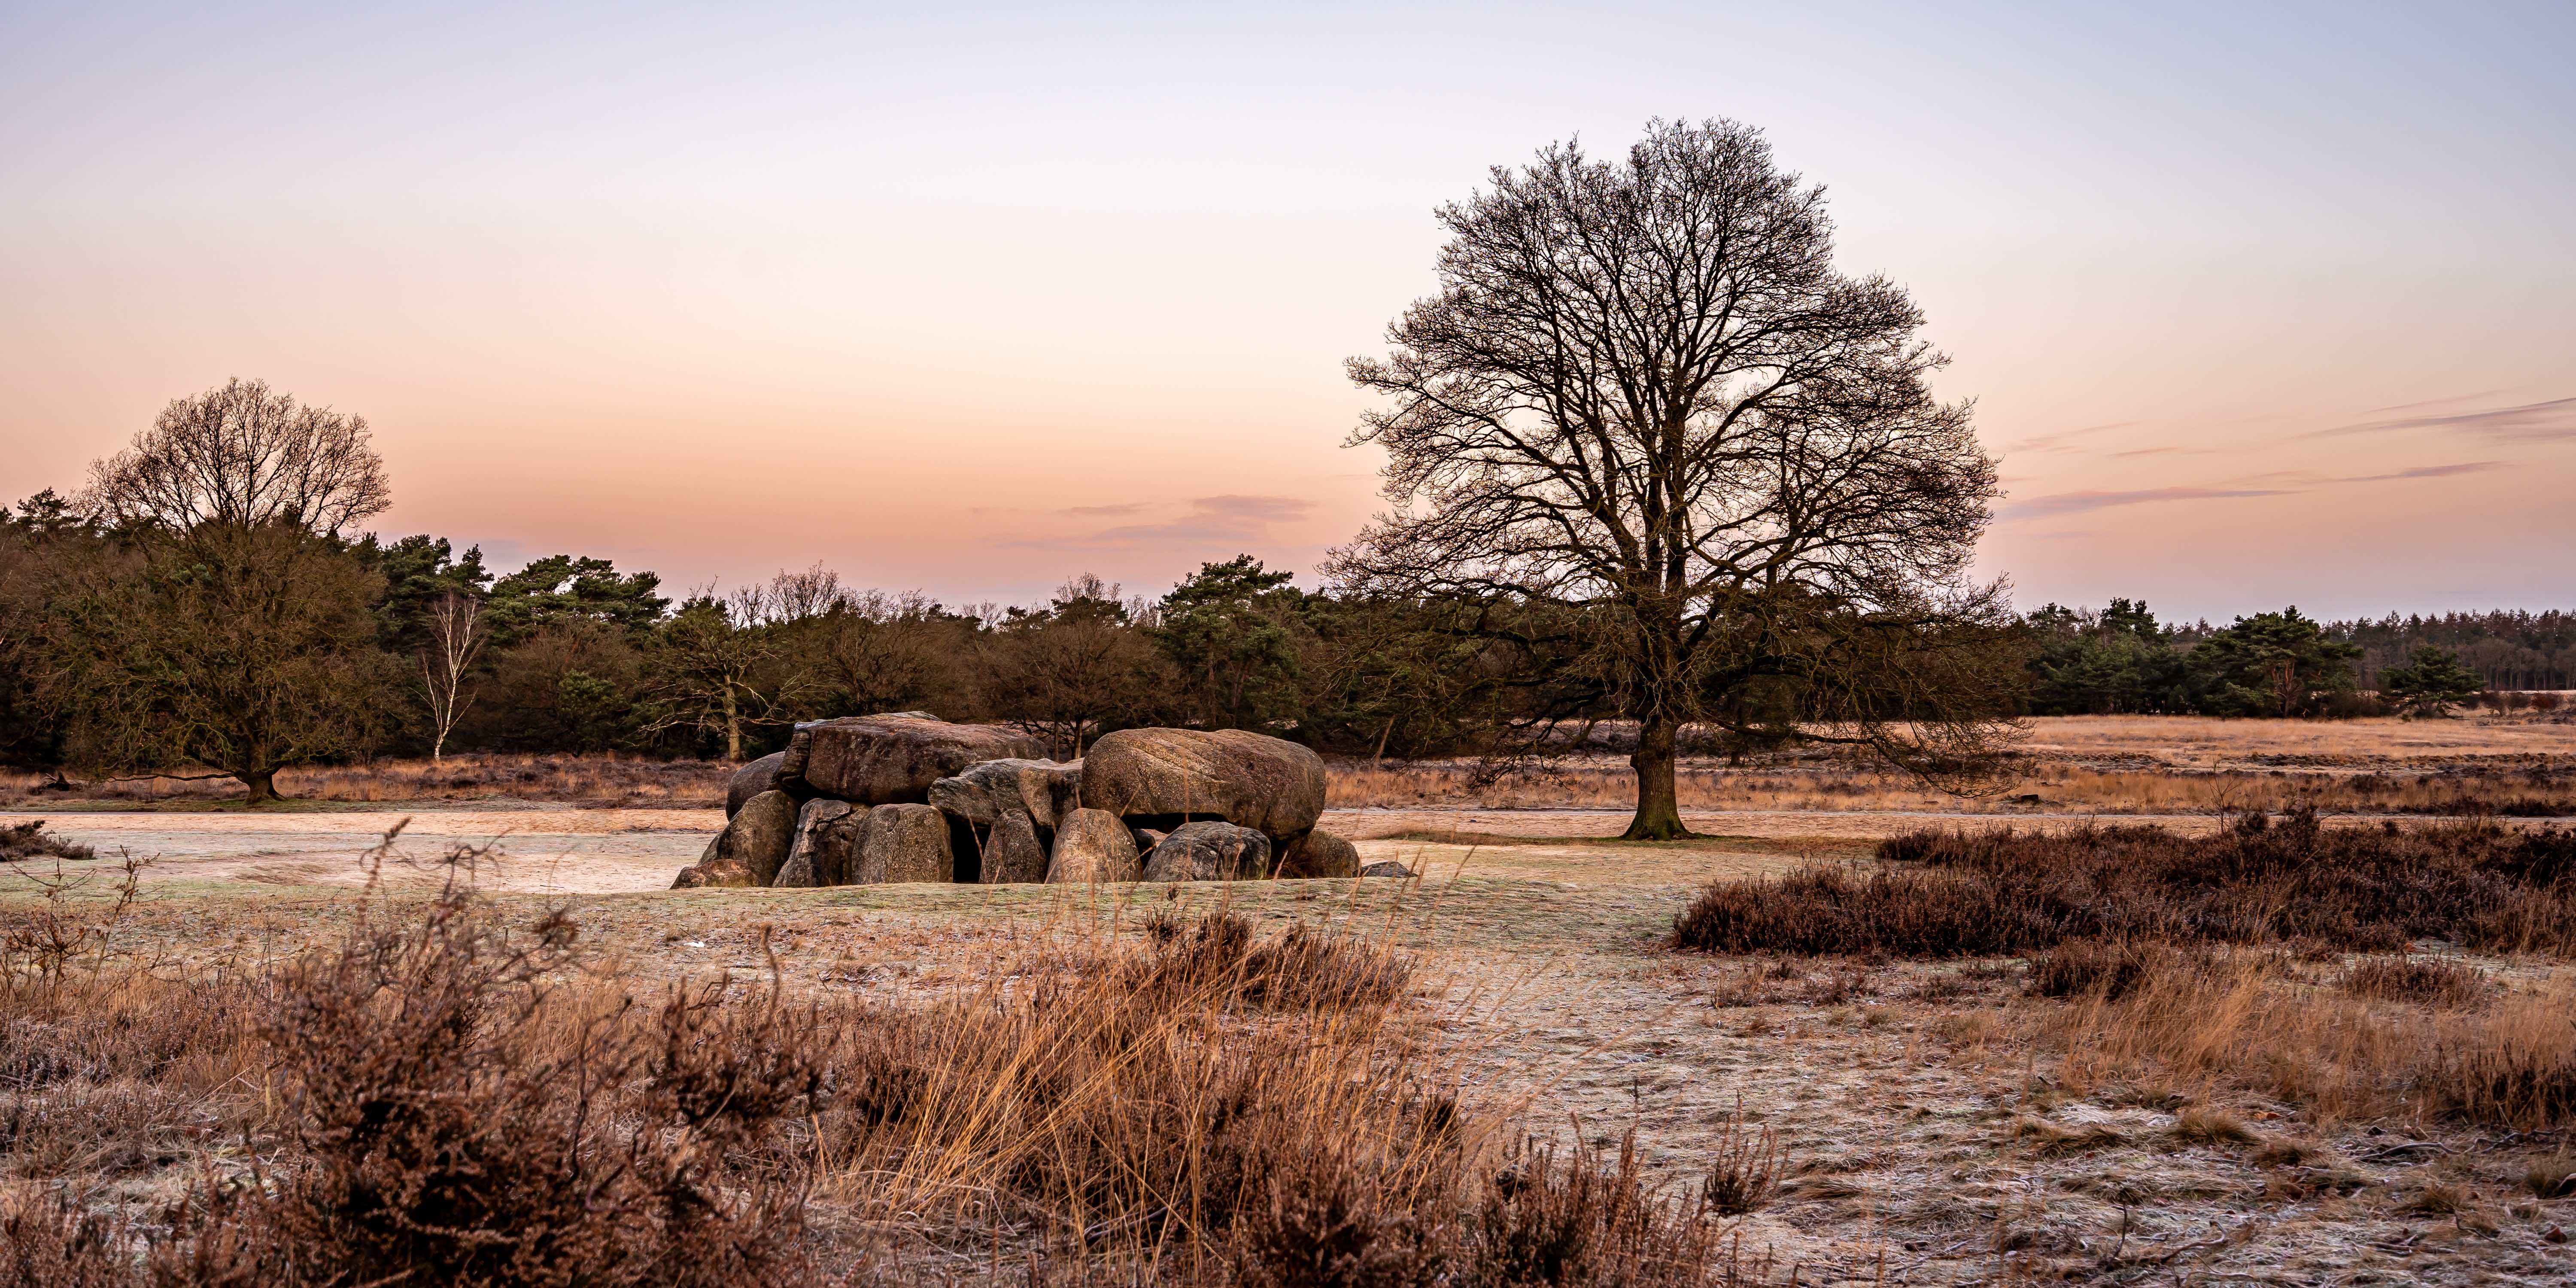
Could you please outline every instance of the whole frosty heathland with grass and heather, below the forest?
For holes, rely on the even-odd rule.
[[[667,891],[724,770],[10,783],[26,1280],[2576,1278],[2576,724],[1690,760],[1654,845],[1615,760],[1358,760],[1414,878]]]

